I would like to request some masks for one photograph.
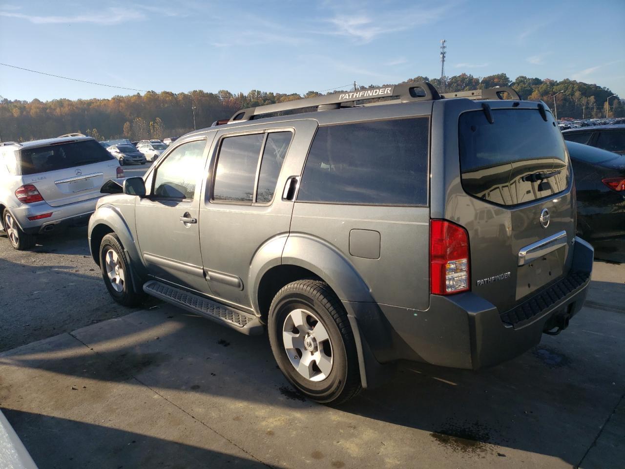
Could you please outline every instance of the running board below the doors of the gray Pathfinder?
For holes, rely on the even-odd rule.
[[[143,291],[191,313],[206,316],[243,334],[261,335],[263,333],[264,327],[255,315],[234,310],[203,296],[194,295],[156,280],[146,282],[143,285]]]

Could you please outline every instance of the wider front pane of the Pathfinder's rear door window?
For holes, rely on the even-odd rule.
[[[214,200],[252,202],[258,158],[264,134],[239,135],[221,141]]]

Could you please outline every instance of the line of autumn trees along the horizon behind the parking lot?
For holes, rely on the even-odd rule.
[[[402,83],[416,81],[429,81],[436,89],[443,89],[441,79],[429,79],[426,76],[417,76]],[[373,86],[371,84],[361,88]],[[542,99],[550,108],[553,106],[555,95],[558,116],[571,118],[606,116],[606,99],[614,94],[611,90],[596,84],[526,76],[519,76],[512,81],[504,73],[485,77],[462,73],[444,79],[446,92],[493,86],[512,86],[522,99]],[[331,93],[337,91],[341,90]],[[114,96],[111,99],[53,99],[45,102],[39,99],[32,101],[2,99],[0,139],[26,141],[71,132],[89,134],[98,140],[163,139],[191,131],[194,123],[198,129],[208,127],[218,119],[229,118],[242,108],[321,95],[322,93],[316,91],[309,91],[300,96],[254,89],[247,94],[232,94],[226,90],[217,93],[195,90],[189,93],[148,91],[143,95],[138,93],[130,96]],[[625,116],[624,106],[618,96],[610,99],[607,114],[611,117]]]

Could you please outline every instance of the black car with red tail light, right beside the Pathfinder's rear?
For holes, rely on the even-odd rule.
[[[577,233],[592,245],[625,243],[625,156],[566,142],[577,188]],[[612,243],[614,241],[614,243]],[[606,245],[607,242],[607,245]]]

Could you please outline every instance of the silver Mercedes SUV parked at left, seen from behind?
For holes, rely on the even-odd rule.
[[[100,188],[123,178],[118,161],[91,137],[0,144],[1,228],[16,250],[59,225],[87,224]]]

